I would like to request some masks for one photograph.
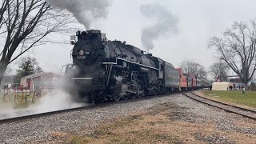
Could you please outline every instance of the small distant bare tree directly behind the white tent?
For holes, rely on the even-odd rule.
[[[221,82],[227,81],[227,72],[230,70],[230,66],[226,64],[226,62],[214,62],[210,66],[210,74],[213,75],[214,78],[219,78]]]

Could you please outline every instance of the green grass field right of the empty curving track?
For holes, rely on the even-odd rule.
[[[242,106],[256,108],[256,91],[204,91],[206,97],[214,98],[222,102],[231,102]]]

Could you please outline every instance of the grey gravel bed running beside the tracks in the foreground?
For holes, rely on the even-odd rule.
[[[172,94],[136,102],[113,103],[90,110],[77,110],[65,114],[31,118],[23,122],[0,124],[0,143],[50,142],[54,140],[53,132],[81,134],[81,129],[84,131],[84,129],[88,128],[89,130],[118,116],[146,110],[166,102],[175,103],[178,106],[177,111],[182,107],[184,109],[182,111],[186,112],[186,116],[183,117],[182,113],[177,113],[177,115],[174,114],[174,118],[183,118],[182,120],[190,122],[215,122],[219,130],[256,134],[256,127],[244,129],[234,124],[234,122],[253,123],[254,121],[250,119],[242,118],[236,114],[228,114],[225,111],[194,102],[182,94]],[[217,138],[216,135],[209,138],[209,136],[203,137],[203,134],[198,134],[195,137],[204,141],[209,140],[209,142],[217,139],[219,143],[234,143],[229,142],[224,137]]]

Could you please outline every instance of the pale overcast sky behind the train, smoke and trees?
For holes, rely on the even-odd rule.
[[[140,14],[140,6],[158,3],[178,18],[178,33],[154,41],[154,56],[178,67],[183,60],[193,59],[208,68],[214,62],[214,50],[206,48],[213,35],[220,35],[234,21],[256,18],[256,1],[253,0],[112,0],[108,18],[92,23],[93,29],[102,30],[110,40],[119,39],[142,48],[141,32],[154,20]],[[79,29],[80,30],[80,29]],[[75,31],[74,31],[75,34]],[[54,35],[62,42],[70,42],[68,35]],[[62,65],[72,63],[73,46],[47,44],[39,46],[24,56],[38,58],[43,70],[60,72]],[[145,49],[144,49],[145,50]]]

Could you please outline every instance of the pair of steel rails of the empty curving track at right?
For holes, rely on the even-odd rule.
[[[233,113],[233,114],[239,114],[239,115],[241,115],[242,117],[245,117],[245,118],[250,118],[250,119],[256,120],[256,117],[254,117],[254,116],[250,116],[248,114],[242,114],[242,113],[240,113],[238,111],[230,110],[230,109],[228,109],[226,107],[222,107],[222,106],[230,106],[230,107],[235,108],[235,109],[243,110],[244,112],[250,112],[250,113],[256,114],[256,111],[254,111],[254,110],[249,110],[249,109],[245,109],[245,108],[242,108],[242,107],[239,107],[239,106],[233,106],[233,105],[230,105],[230,104],[227,104],[227,103],[218,102],[218,101],[212,100],[210,98],[204,98],[204,97],[198,96],[197,94],[194,94],[192,92],[190,92],[190,94],[193,94],[194,97],[197,97],[197,98],[193,98],[193,96],[190,96],[189,94],[183,93],[183,95],[185,95],[186,97],[191,98],[191,99],[193,99],[193,100],[195,100],[197,102],[202,102],[202,103],[204,103],[206,105],[214,106],[214,107],[217,107],[218,109],[225,110],[225,111]],[[202,99],[204,99],[204,100],[202,100]],[[206,102],[206,101],[208,101],[208,102]],[[215,102],[217,104],[221,104],[222,106],[216,106],[214,104],[211,104],[209,101],[210,102]]]

